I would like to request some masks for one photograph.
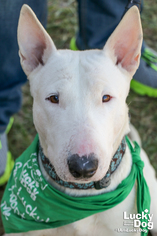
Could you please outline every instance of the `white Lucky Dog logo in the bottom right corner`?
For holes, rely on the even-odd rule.
[[[119,233],[123,232],[144,232],[148,233],[148,230],[153,229],[153,214],[150,214],[148,209],[137,214],[128,214],[126,211],[123,212],[123,228],[115,229]]]

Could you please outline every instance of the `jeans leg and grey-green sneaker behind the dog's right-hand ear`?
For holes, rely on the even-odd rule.
[[[71,49],[102,49],[119,24],[128,0],[77,0],[79,30]],[[74,46],[74,47],[73,47]],[[157,56],[147,52],[142,44],[139,69],[131,82],[131,88],[141,95],[157,97]],[[154,59],[155,57],[155,59]]]

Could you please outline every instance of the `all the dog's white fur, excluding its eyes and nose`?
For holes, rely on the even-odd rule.
[[[26,22],[32,22],[31,29]],[[30,32],[31,38],[28,42],[26,37]],[[21,10],[18,35],[21,64],[28,75],[34,99],[34,124],[44,154],[55,167],[58,176],[65,181],[80,183],[99,181],[105,176],[122,138],[129,132],[126,97],[130,80],[139,65],[142,43],[142,29],[137,8],[133,7],[128,11],[103,50],[83,52],[56,50],[34,13],[26,5]],[[38,35],[41,37],[38,38]],[[41,55],[36,51],[39,45]],[[32,58],[35,58],[34,61]],[[46,100],[53,94],[59,94],[59,104]],[[102,103],[104,95],[110,95],[112,99]],[[95,153],[99,163],[92,178],[78,181],[70,174],[67,158],[75,153],[80,156]],[[157,182],[155,172],[143,150],[141,157],[145,161],[144,173],[152,195],[151,213],[154,214],[152,232],[155,233],[157,232]],[[102,190],[66,189],[54,183],[42,165],[41,170],[45,179],[61,191],[73,196],[86,196],[113,191],[128,176],[131,164],[132,158],[127,147],[120,166],[111,176],[110,186]],[[57,229],[30,231],[18,235],[125,236],[128,233],[121,234],[115,231],[117,228],[126,228],[123,226],[124,211],[137,212],[136,184],[128,197],[110,210]]]

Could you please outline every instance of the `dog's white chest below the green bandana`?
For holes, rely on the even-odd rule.
[[[128,197],[117,206],[110,210],[102,213],[98,213],[77,221],[75,223],[63,226],[57,229],[42,230],[38,232],[33,232],[34,236],[104,236],[104,235],[120,235],[118,230],[123,230],[126,228],[124,226],[123,212],[136,213],[135,205],[135,191],[134,187]],[[132,229],[127,226],[128,229]],[[123,236],[127,236],[128,232],[123,232]],[[137,233],[130,233],[129,235],[134,236]]]

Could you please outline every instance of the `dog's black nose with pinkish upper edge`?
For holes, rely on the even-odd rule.
[[[98,168],[98,160],[93,153],[82,157],[73,154],[68,158],[68,166],[70,173],[75,178],[90,178]]]

